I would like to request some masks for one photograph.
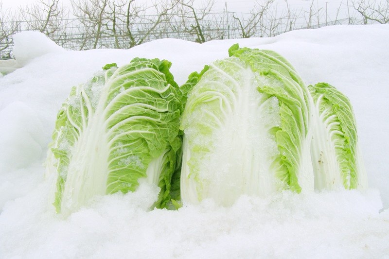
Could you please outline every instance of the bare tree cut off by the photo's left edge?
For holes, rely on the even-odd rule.
[[[20,31],[20,22],[11,10],[3,11],[0,2],[0,58],[11,58],[12,35]]]

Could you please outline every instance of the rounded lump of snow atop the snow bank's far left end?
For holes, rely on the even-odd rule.
[[[13,52],[18,65],[21,67],[44,54],[65,51],[46,35],[39,32],[26,31],[13,37],[15,44]]]

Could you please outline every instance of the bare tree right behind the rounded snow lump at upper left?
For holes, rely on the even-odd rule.
[[[41,32],[56,43],[66,36],[69,11],[59,0],[39,0],[32,5],[20,8],[27,30]]]

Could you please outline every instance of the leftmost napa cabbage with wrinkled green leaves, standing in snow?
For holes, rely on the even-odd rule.
[[[57,212],[72,212],[96,194],[158,185],[156,207],[170,200],[180,166],[181,92],[166,60],[135,58],[107,65],[73,87],[58,112],[46,167]]]

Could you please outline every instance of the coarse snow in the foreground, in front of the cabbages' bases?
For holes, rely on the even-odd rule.
[[[42,202],[45,190],[40,185],[4,207],[4,258],[383,258],[389,252],[389,214],[378,213],[376,191],[285,191],[243,196],[227,208],[205,200],[148,211],[159,190],[142,185],[135,193],[95,197],[61,219]]]

